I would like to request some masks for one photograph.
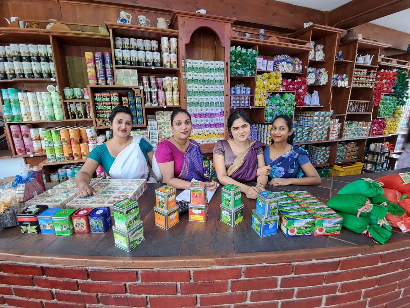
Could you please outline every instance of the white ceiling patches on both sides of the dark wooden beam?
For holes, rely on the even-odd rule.
[[[319,11],[332,11],[352,0],[276,0]],[[410,34],[410,8],[378,18],[371,23]]]

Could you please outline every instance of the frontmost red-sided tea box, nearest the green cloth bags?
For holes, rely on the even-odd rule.
[[[340,234],[343,217],[335,211],[311,212],[310,215],[315,219],[313,235]]]

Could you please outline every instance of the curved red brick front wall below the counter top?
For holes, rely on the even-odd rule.
[[[106,269],[4,261],[0,267],[4,307],[410,307],[410,248],[208,268]]]

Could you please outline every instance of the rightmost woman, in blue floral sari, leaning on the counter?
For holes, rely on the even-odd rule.
[[[287,115],[279,115],[272,122],[271,145],[263,155],[266,172],[273,186],[319,185],[321,179],[304,149],[293,145],[293,122]],[[263,168],[263,167],[262,167]],[[259,171],[259,170],[258,170]]]

